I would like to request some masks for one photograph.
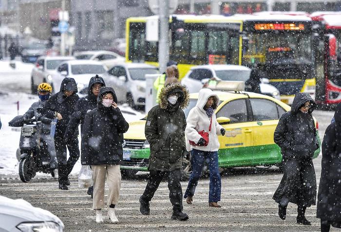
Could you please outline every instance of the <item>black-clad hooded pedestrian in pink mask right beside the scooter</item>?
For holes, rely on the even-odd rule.
[[[76,161],[79,158],[78,139],[73,136],[66,144],[64,134],[69,123],[71,115],[75,112],[76,103],[79,99],[77,85],[74,78],[65,77],[60,85],[60,91],[52,95],[45,105],[45,114],[49,116],[54,112],[58,117],[58,123],[55,133],[55,146],[58,160],[58,181],[59,189],[68,190],[70,185],[69,174],[71,173]],[[78,134],[76,129],[75,134]],[[66,147],[69,150],[70,157],[66,161]]]

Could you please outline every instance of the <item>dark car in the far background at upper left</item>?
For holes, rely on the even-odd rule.
[[[39,56],[46,55],[47,47],[44,42],[31,42],[21,50],[22,62],[35,63]]]

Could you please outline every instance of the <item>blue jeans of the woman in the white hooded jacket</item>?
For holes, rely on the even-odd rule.
[[[194,196],[195,187],[198,185],[198,180],[201,176],[201,172],[206,161],[209,168],[208,202],[220,201],[221,178],[218,168],[218,152],[193,149],[191,151],[191,156],[192,174],[190,175],[184,198],[187,198],[187,196]]]

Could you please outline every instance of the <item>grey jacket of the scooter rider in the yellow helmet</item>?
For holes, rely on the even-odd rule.
[[[31,105],[31,107],[26,111],[26,113],[24,113],[22,115],[22,120],[28,120],[31,119],[33,117],[35,117],[35,119],[37,121],[40,121],[41,124],[41,132],[42,134],[50,134],[50,128],[51,128],[51,122],[53,120],[54,117],[48,118],[43,116],[41,113],[38,113],[38,108],[44,108],[46,105],[47,101],[38,101],[35,102]]]

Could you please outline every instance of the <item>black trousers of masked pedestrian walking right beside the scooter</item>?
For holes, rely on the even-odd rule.
[[[58,161],[59,184],[66,184],[69,174],[79,159],[79,146],[77,137],[73,138],[70,144],[64,143],[63,136],[55,136],[55,147]],[[69,159],[66,159],[66,148],[69,150]]]

